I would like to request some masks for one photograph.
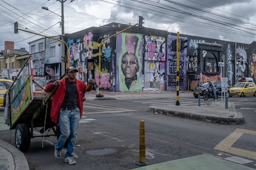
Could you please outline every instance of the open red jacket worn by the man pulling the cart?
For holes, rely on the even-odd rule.
[[[59,87],[53,95],[53,100],[51,103],[51,121],[56,123],[59,118],[59,110],[61,110],[62,102],[64,101],[64,97],[66,94],[66,80],[68,78],[61,79],[59,81]],[[83,115],[83,95],[86,86],[90,86],[87,83],[83,83],[82,81],[75,79],[75,83],[77,84],[77,104],[80,109],[80,117]],[[45,87],[45,92],[53,91],[55,85],[54,83],[49,83]],[[93,86],[92,86],[93,87]],[[92,90],[92,87],[88,89],[88,91]]]

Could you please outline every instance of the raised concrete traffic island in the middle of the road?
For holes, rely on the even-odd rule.
[[[151,113],[197,119],[211,123],[242,124],[244,117],[237,112],[233,102],[225,108],[223,102],[212,101],[203,106],[153,105],[148,109]]]

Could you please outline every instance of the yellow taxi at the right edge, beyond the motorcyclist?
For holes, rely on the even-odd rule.
[[[229,97],[245,97],[245,95],[254,95],[256,97],[256,86],[253,82],[239,82],[229,88]]]

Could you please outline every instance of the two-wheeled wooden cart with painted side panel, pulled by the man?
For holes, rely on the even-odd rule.
[[[30,148],[30,139],[34,137],[59,136],[58,124],[50,118],[51,95],[54,91],[49,94],[43,90],[35,91],[32,66],[30,58],[6,97],[10,129],[15,129],[15,147],[22,152]]]

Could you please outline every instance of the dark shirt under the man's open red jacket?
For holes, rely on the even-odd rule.
[[[61,108],[77,107],[77,84],[75,82],[66,81],[66,95]]]

